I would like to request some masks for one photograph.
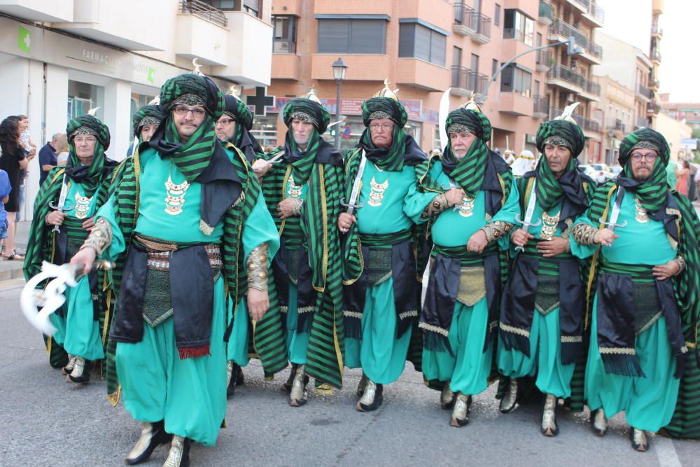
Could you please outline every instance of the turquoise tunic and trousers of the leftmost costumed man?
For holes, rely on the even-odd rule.
[[[80,183],[69,182],[66,196],[66,206],[69,209],[64,210],[68,217],[61,227],[69,229],[66,254],[68,258],[78,251],[80,244],[87,237],[87,230],[80,224],[94,216],[96,204],[97,197],[85,197]],[[66,288],[65,295],[64,316],[55,313],[49,316],[51,323],[57,328],[53,335],[54,340],[73,356],[92,361],[104,358],[101,329],[99,321],[94,319],[92,292],[87,276],[83,276],[76,287]]]

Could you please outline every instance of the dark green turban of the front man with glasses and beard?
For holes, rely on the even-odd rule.
[[[165,112],[171,111],[178,104],[203,106],[214,120],[221,117],[226,106],[216,83],[207,76],[193,73],[170,78],[160,88],[160,106]]]

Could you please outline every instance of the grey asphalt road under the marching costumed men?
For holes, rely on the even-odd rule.
[[[48,365],[41,336],[18,309],[21,281],[0,287],[0,466],[119,466],[139,435],[123,407],[112,407],[105,384],[64,381]],[[540,434],[540,407],[498,413],[495,387],[475,397],[471,422],[448,425],[438,394],[411,365],[384,389],[377,412],[354,409],[358,370],[347,370],[346,389],[309,396],[289,407],[278,375],[265,382],[257,361],[228,403],[228,428],[215,447],[194,445],[197,466],[698,466],[700,442],[655,436],[647,453],[629,447],[624,417],[611,421],[605,438],[591,433],[587,413],[560,407],[560,434]],[[151,461],[160,466],[167,447]]]

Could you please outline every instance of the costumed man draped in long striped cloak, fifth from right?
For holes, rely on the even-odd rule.
[[[266,155],[279,163],[253,167],[261,167],[262,192],[281,235],[273,270],[292,363],[283,388],[298,407],[306,403],[309,376],[317,390],[342,387],[342,258],[335,223],[344,174],[342,156],[321,138],[330,116],[314,90],[292,99],[283,118],[289,128],[284,146]]]

